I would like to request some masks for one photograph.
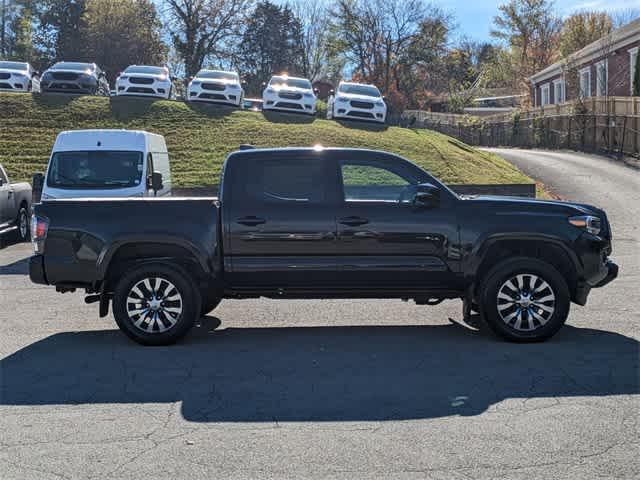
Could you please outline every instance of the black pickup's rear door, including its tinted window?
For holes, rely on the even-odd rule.
[[[224,172],[225,274],[233,287],[329,285],[336,274],[333,169],[322,152],[246,152]]]

